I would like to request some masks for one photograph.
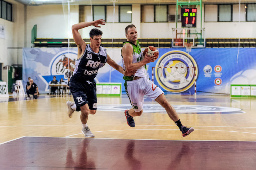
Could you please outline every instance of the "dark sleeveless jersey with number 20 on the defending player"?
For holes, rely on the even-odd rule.
[[[76,60],[72,78],[76,81],[93,80],[106,61],[107,52],[104,47],[100,46],[99,53],[95,54],[90,44],[87,44],[82,57]]]

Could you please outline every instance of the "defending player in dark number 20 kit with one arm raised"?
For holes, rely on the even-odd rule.
[[[99,68],[107,62],[125,76],[131,76],[136,73],[136,71],[124,71],[123,67],[119,66],[109,57],[106,49],[100,46],[102,31],[96,28],[92,29],[90,31],[90,44],[84,42],[78,30],[88,26],[100,27],[98,26],[99,24],[105,25],[105,20],[100,19],[72,26],[73,38],[78,46],[78,58],[69,83],[75,103],[67,101],[68,116],[72,117],[74,111],[82,111],[80,119],[83,125],[82,133],[85,137],[94,137],[87,125],[87,120],[89,113],[94,115],[97,109],[96,83],[94,78]]]

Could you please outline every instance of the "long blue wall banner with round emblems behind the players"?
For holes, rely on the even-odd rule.
[[[159,57],[147,64],[147,73],[154,83],[166,93],[193,94],[197,91],[230,93],[230,84],[256,84],[256,49],[206,48],[158,49]],[[107,53],[122,65],[121,48],[107,48]],[[49,82],[56,76],[67,80],[74,70],[77,48],[24,48],[23,84],[31,77],[39,92],[49,90]],[[108,64],[99,69],[96,82],[121,82],[123,74]],[[122,88],[124,91],[124,88]]]

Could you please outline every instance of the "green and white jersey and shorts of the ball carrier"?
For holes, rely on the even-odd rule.
[[[142,61],[144,59],[144,56],[143,56],[143,52],[141,50],[139,41],[137,40],[137,45],[127,41],[123,43],[123,46],[126,43],[130,43],[133,47],[132,63]],[[123,59],[123,68],[125,70],[124,59]],[[147,73],[146,65],[144,65],[139,69],[137,69],[137,73],[135,73],[135,75],[130,77],[127,77],[127,76],[123,77],[123,79],[125,80],[125,83],[124,83],[125,91],[130,99],[131,105],[135,112],[142,111],[143,103],[144,103],[144,99],[143,99],[144,95],[155,100],[158,96],[163,94],[163,91],[148,78],[146,73]],[[141,78],[137,80],[133,80],[134,76],[141,77]]]

